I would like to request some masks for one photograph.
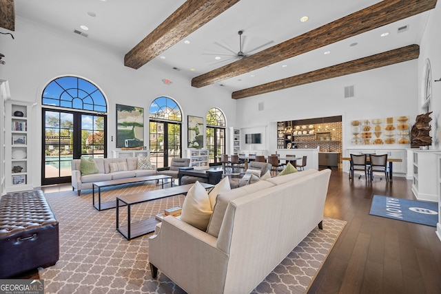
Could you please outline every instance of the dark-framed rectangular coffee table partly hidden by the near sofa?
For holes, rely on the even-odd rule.
[[[130,222],[130,207],[133,204],[139,204],[143,202],[148,202],[156,199],[166,198],[170,196],[176,196],[179,194],[185,194],[188,190],[193,187],[194,184],[175,186],[171,188],[146,191],[143,193],[129,194],[116,197],[116,231],[119,231],[127,240],[132,240],[133,238],[140,237],[141,235],[146,235],[148,233],[154,232],[158,220],[153,216],[152,218],[147,218],[147,220],[140,220],[139,222]],[[205,189],[210,189],[214,185],[206,184],[201,182],[201,185]],[[121,202],[121,203],[120,203]],[[119,226],[119,207],[127,206],[127,226]]]

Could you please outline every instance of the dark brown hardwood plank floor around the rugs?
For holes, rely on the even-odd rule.
[[[308,293],[441,293],[441,241],[435,227],[370,216],[373,195],[415,199],[405,178],[395,177],[391,184],[349,180],[347,173],[333,169],[325,216],[347,225]],[[21,277],[39,278],[38,272]]]

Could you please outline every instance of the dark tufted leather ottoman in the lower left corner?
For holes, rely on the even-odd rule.
[[[1,196],[0,279],[59,260],[59,223],[42,191]]]

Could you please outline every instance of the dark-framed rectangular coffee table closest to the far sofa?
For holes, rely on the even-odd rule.
[[[147,182],[149,180],[161,180],[162,188],[164,189],[164,180],[170,179],[173,187],[173,179],[172,176],[165,175],[157,175],[157,176],[143,176],[136,178],[121,178],[119,180],[104,180],[102,182],[93,182],[92,183],[92,205],[98,210],[102,211],[105,209],[112,209],[116,207],[116,201],[109,201],[101,203],[101,188],[124,185],[124,184],[132,184],[134,182]],[[95,187],[98,188],[98,204],[95,204]]]

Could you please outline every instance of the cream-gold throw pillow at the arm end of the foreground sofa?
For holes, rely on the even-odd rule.
[[[212,205],[209,202],[207,190],[196,181],[193,187],[188,190],[187,196],[185,196],[181,220],[205,231],[212,213]]]

